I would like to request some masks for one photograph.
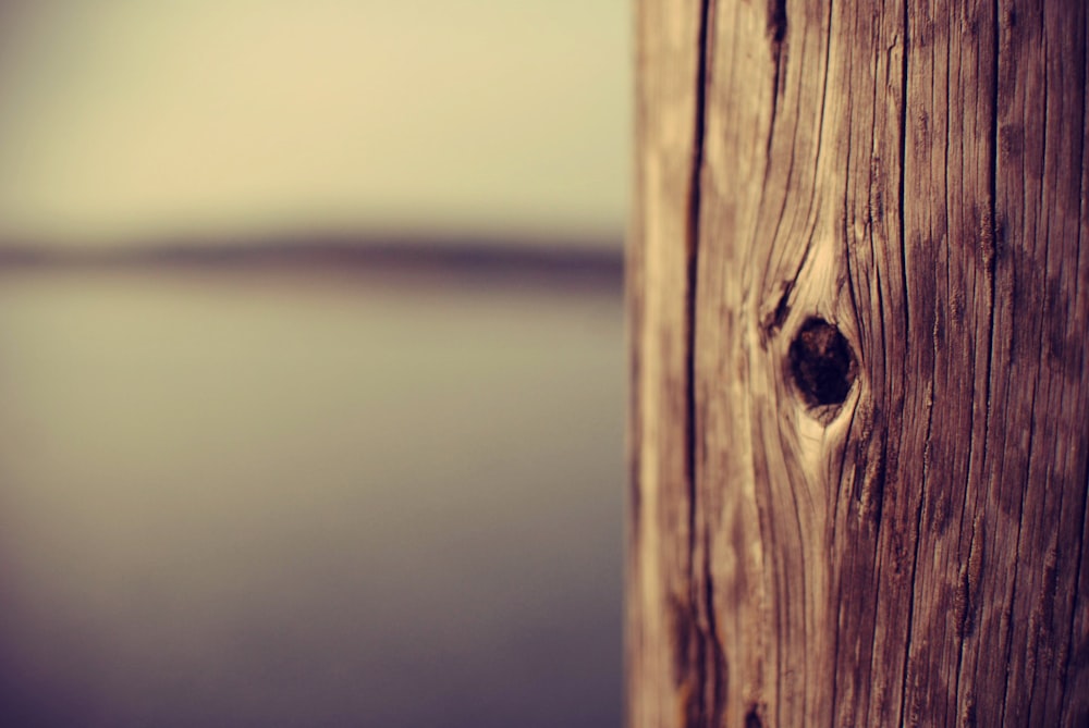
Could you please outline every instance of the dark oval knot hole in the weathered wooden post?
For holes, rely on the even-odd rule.
[[[810,407],[840,405],[855,383],[858,363],[847,338],[834,325],[809,318],[791,342],[791,374]]]

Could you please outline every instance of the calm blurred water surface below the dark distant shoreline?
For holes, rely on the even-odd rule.
[[[0,706],[616,726],[615,293],[0,274]]]

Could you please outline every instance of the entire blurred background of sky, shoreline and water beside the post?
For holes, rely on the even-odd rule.
[[[0,725],[617,726],[626,0],[0,0]]]

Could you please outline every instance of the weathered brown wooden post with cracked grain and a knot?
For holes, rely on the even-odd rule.
[[[637,34],[628,724],[1089,725],[1086,4]]]

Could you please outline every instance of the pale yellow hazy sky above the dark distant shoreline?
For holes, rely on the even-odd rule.
[[[627,0],[2,7],[0,237],[624,226]]]

